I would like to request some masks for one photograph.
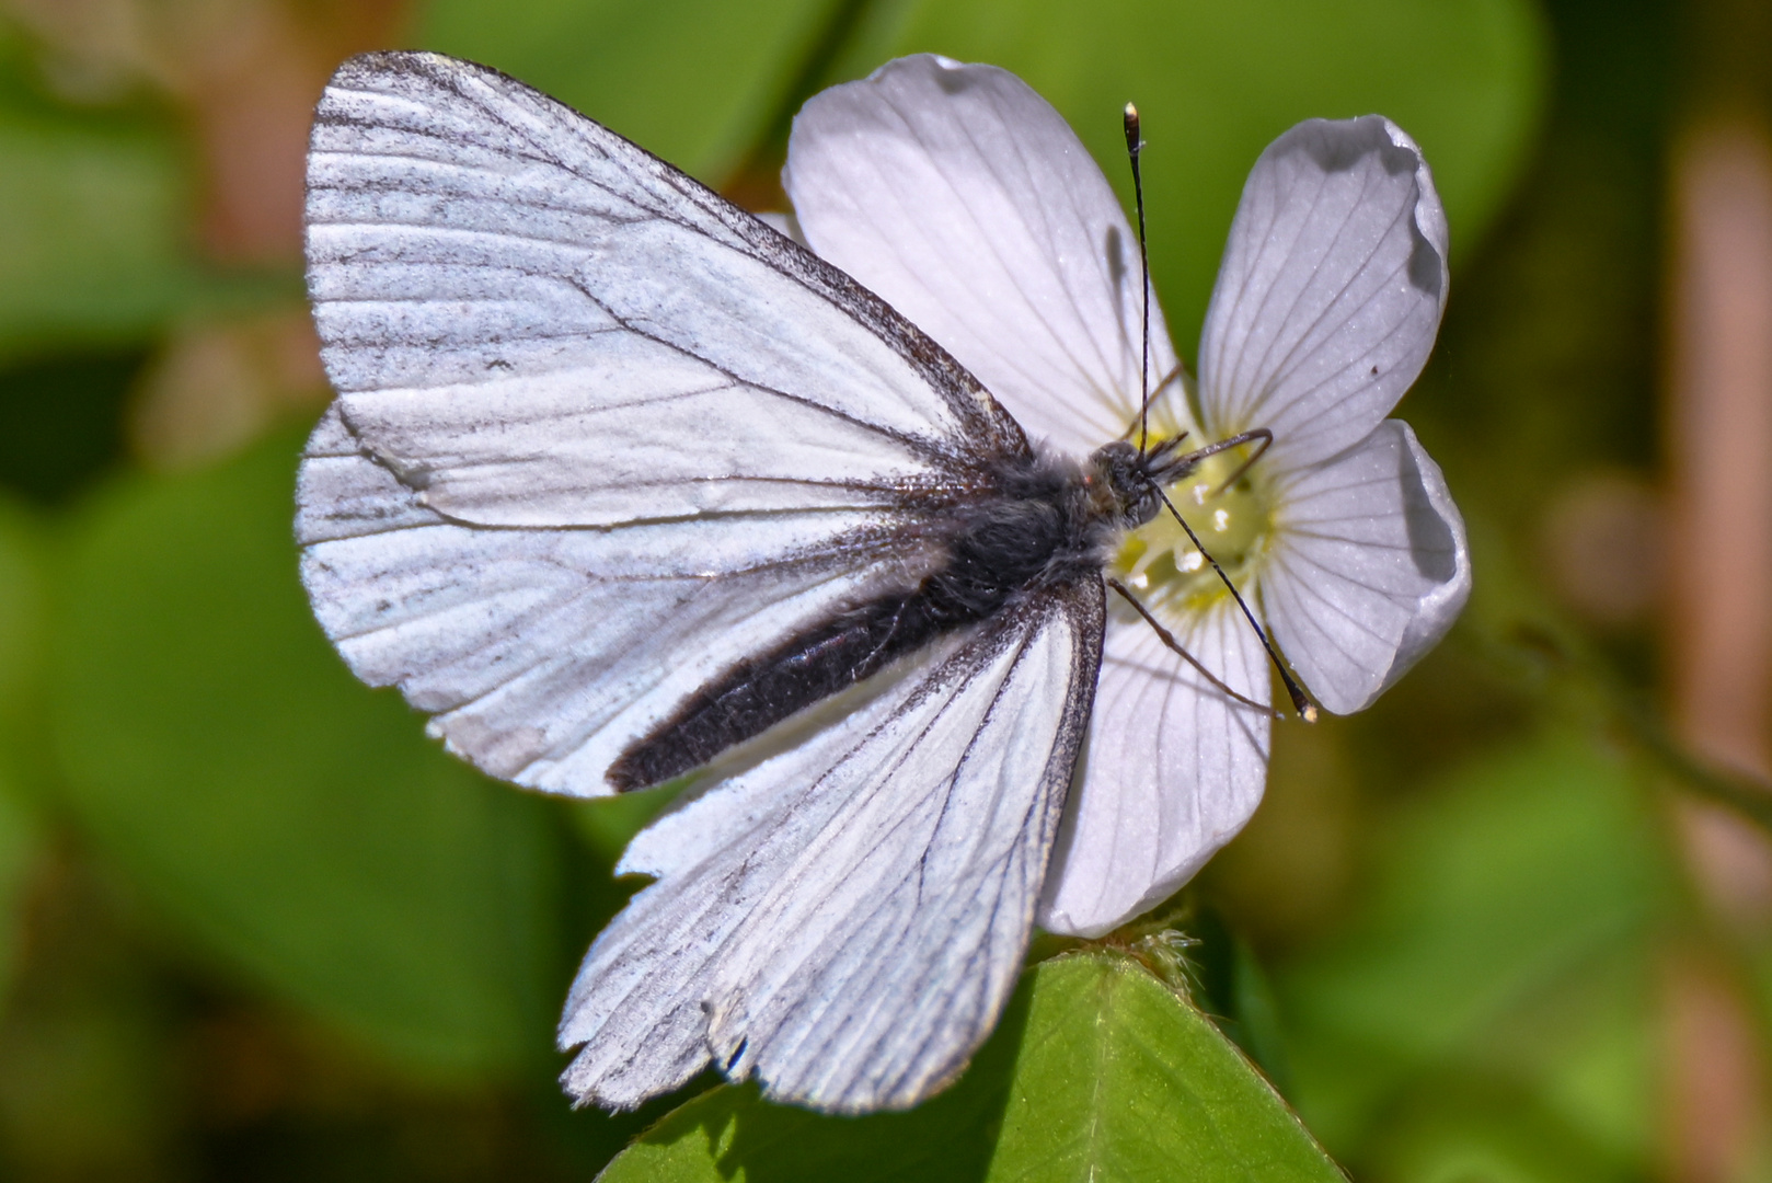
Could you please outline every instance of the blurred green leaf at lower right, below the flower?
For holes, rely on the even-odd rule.
[[[1295,1098],[1338,1151],[1421,1080],[1512,1080],[1584,1139],[1653,1128],[1653,938],[1678,889],[1632,770],[1550,736],[1402,811],[1352,931],[1281,979]],[[1636,1146],[1641,1149],[1641,1146]]]

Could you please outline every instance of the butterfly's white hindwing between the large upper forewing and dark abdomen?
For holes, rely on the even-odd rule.
[[[916,553],[859,527],[808,539],[792,514],[489,530],[424,505],[333,415],[308,449],[301,571],[351,669],[436,713],[486,772],[555,793],[608,791],[679,701],[872,591],[881,555]]]

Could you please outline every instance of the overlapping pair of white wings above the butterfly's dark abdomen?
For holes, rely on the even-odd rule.
[[[698,685],[914,584],[936,516],[1026,450],[845,275],[436,55],[328,87],[308,284],[340,392],[299,490],[321,623],[535,787],[610,791]]]

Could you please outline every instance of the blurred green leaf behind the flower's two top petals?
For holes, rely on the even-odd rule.
[[[913,0],[879,5],[838,67],[914,51],[1021,74],[1077,129],[1131,204],[1120,110],[1143,115],[1152,273],[1193,356],[1249,167],[1313,115],[1380,112],[1426,153],[1453,252],[1524,163],[1543,96],[1531,0]],[[902,14],[900,14],[902,12]]]

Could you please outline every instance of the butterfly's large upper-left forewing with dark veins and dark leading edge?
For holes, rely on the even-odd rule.
[[[347,64],[307,216],[346,424],[462,520],[875,507],[1021,447],[840,271],[493,71]]]

